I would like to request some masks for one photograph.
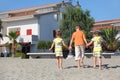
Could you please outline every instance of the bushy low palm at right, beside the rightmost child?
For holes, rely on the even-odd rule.
[[[102,37],[106,41],[105,47],[107,51],[116,51],[120,47],[120,43],[118,42],[120,37],[116,38],[118,30],[115,27],[102,29],[101,33]]]

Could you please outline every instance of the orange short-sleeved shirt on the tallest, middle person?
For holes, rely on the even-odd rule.
[[[83,31],[76,31],[72,35],[72,40],[74,40],[74,46],[85,45],[84,42],[85,34]]]

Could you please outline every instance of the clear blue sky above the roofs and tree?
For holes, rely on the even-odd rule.
[[[65,0],[69,1],[69,0]],[[77,0],[72,0],[75,5]],[[62,0],[0,0],[0,12],[42,6]],[[95,21],[120,19],[120,0],[79,0],[83,10],[89,10]]]

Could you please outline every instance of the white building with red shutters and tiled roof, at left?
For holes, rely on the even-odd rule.
[[[67,2],[66,4],[70,4]],[[62,3],[48,4],[38,7],[13,10],[0,13],[3,23],[2,34],[10,31],[20,34],[17,41],[27,46],[28,52],[36,52],[36,44],[40,40],[52,41],[54,30],[58,29],[61,18]],[[0,40],[0,44],[10,41],[7,37]],[[30,44],[30,45],[29,45]],[[25,47],[23,47],[25,49]],[[2,51],[2,49],[1,49]]]

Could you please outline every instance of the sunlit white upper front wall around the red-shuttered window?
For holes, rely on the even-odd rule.
[[[7,23],[7,34],[9,28],[20,28],[20,35],[26,35],[27,29],[32,29],[32,35],[38,35],[37,19],[21,20]]]

